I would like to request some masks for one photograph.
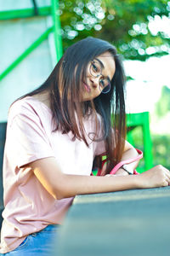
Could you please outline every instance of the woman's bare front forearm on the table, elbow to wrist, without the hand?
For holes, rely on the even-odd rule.
[[[56,191],[58,199],[71,197],[81,194],[94,194],[113,192],[125,189],[137,189],[138,182],[135,176],[81,176],[81,175],[63,175],[60,186]]]

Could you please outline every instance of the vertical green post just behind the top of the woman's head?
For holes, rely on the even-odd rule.
[[[59,1],[51,0],[52,16],[54,21],[54,44],[56,50],[57,61],[63,55],[62,38],[61,38],[61,26],[59,20]]]

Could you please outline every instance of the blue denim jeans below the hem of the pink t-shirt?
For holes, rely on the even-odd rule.
[[[57,242],[59,225],[48,225],[44,230],[26,236],[19,247],[2,256],[50,256],[54,243]],[[57,256],[57,255],[56,255]]]

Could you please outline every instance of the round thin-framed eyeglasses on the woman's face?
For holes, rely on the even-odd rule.
[[[99,61],[97,60],[91,61],[89,71],[94,78],[98,78],[99,76],[102,76],[102,79],[99,79],[99,90],[102,93],[108,93],[111,90],[111,80],[108,78],[105,78],[101,73],[102,67]]]

